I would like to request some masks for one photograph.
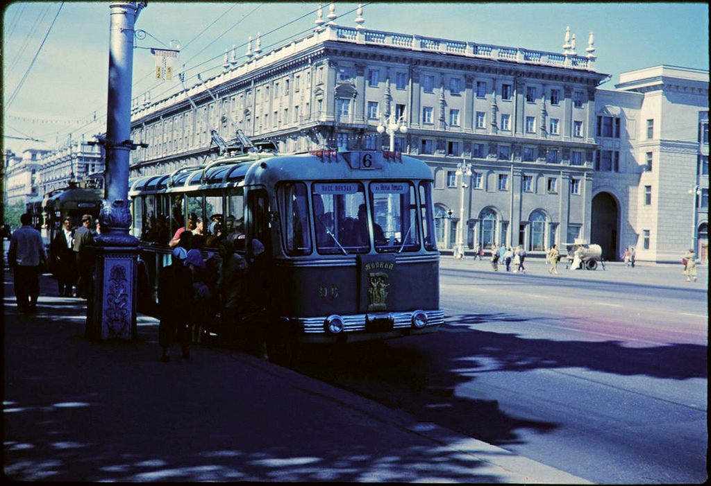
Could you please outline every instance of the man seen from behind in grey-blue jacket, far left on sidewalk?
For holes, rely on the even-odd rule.
[[[31,214],[20,216],[20,222],[22,226],[10,236],[8,260],[14,272],[17,309],[33,314],[40,295],[40,273],[49,267],[49,260],[40,232],[32,227]]]

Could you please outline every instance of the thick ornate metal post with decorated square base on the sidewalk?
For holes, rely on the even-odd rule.
[[[105,150],[105,199],[95,238],[94,286],[87,301],[86,336],[92,340],[137,338],[138,240],[129,234],[129,154],[134,25],[144,2],[110,4],[109,93]]]

